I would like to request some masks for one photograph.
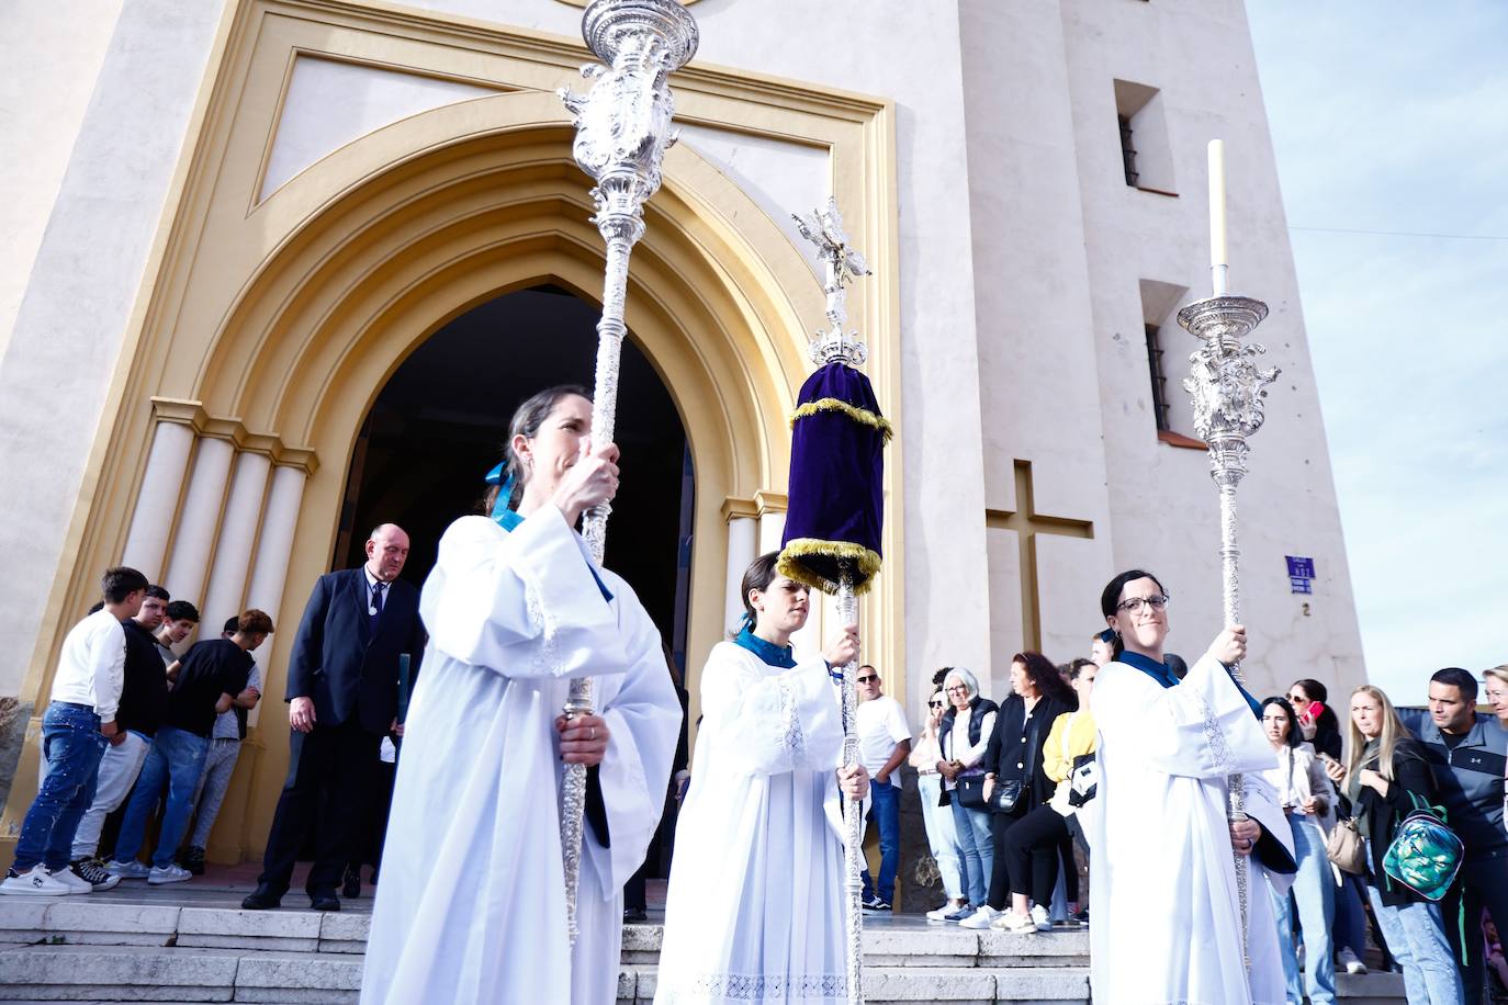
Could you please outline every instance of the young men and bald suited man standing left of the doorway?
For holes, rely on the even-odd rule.
[[[306,844],[315,847],[308,892],[321,910],[339,907],[338,884],[357,895],[362,866],[380,857],[382,765],[401,740],[400,710],[424,646],[418,592],[397,579],[407,551],[407,535],[382,524],[365,567],[315,586],[288,675],[293,780],[268,835],[268,868],[244,907],[277,904]],[[104,573],[101,601],[62,645],[38,794],[0,894],[62,897],[204,874],[262,696],[253,654],[273,622],[249,609],[187,645],[198,622],[192,603],[137,570]]]

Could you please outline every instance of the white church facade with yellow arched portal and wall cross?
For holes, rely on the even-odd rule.
[[[1241,490],[1252,690],[1365,680],[1240,0],[691,12],[701,48],[671,80],[682,142],[645,208],[626,321],[694,472],[691,493],[664,491],[685,514],[662,625],[692,720],[737,577],[778,545],[787,417],[823,313],[790,214],[829,194],[873,268],[851,325],[897,431],[866,658],[914,725],[941,666],[998,696],[1019,649],[1084,654],[1122,568],[1161,577],[1170,648],[1202,652],[1220,627],[1218,518],[1179,387],[1194,339],[1173,318],[1208,295],[1212,137],[1229,149],[1232,289],[1270,304],[1256,338],[1283,371]],[[287,771],[288,649],[315,577],[350,553],[353,508],[372,509],[353,485],[385,387],[501,297],[600,295],[590,184],[553,93],[581,87],[581,5],[21,0],[0,20],[21,68],[6,104],[32,143],[0,167],[17,237],[0,250],[0,842],[35,793],[63,634],[100,571],[128,564],[196,603],[199,637],[243,607],[279,625],[210,848],[255,856]],[[463,366],[553,351],[531,338]],[[626,393],[620,423],[633,407]],[[1288,556],[1312,561],[1312,592],[1292,592]],[[802,646],[832,627],[822,615]]]

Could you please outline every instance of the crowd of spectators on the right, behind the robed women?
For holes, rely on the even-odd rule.
[[[927,919],[1016,934],[1089,924],[1075,857],[1075,845],[1092,854],[1078,823],[1096,782],[1089,696],[1114,658],[1105,634],[1089,643],[1089,657],[1059,667],[1015,654],[998,702],[965,667],[935,674],[908,752],[944,895]],[[1182,677],[1181,660],[1167,664]],[[1289,890],[1271,892],[1289,1000],[1335,1002],[1336,972],[1365,973],[1369,942],[1374,966],[1402,972],[1410,1002],[1476,1005],[1508,991],[1497,940],[1508,919],[1508,666],[1484,677],[1490,713],[1476,710],[1478,678],[1460,667],[1433,675],[1427,708],[1395,708],[1366,684],[1338,711],[1310,678],[1261,702],[1274,755],[1265,774],[1298,866]],[[1399,826],[1430,808],[1464,847],[1437,900],[1384,868]],[[1338,826],[1360,838],[1359,871],[1332,854]]]

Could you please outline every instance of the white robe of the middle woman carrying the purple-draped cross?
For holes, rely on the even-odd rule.
[[[654,1000],[844,1000],[843,710],[828,666],[718,643],[701,711]]]

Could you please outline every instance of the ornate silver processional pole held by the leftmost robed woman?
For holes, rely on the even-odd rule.
[[[582,15],[582,38],[603,65],[581,74],[594,80],[587,96],[561,87],[556,93],[576,124],[572,155],[597,185],[593,221],[608,246],[597,322],[597,375],[593,390],[593,444],[612,441],[618,411],[618,357],[623,351],[623,301],[629,286],[629,255],[644,235],[644,200],[659,190],[661,161],[676,142],[676,102],[665,80],[697,51],[697,23],[676,0],[593,0]],[[600,567],[608,544],[608,514],[602,503],[587,512],[582,535]],[[567,716],[593,713],[591,678],[575,678]],[[581,880],[582,814],[587,768],[566,765],[561,790],[561,857],[566,871],[566,925],[576,945],[576,889]]]

